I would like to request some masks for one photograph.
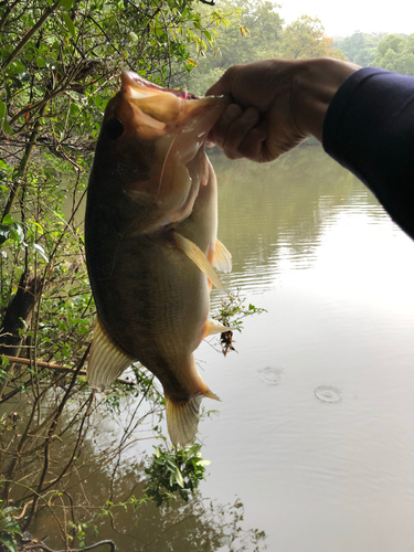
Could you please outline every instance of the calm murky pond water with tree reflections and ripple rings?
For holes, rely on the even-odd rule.
[[[204,401],[220,416],[200,424],[212,460],[202,496],[235,502],[233,513],[238,497],[242,527],[265,531],[272,552],[412,550],[414,243],[319,147],[269,166],[212,160],[219,235],[233,255],[223,283],[267,314],[235,333],[237,353],[224,358],[214,341],[197,351],[222,399]],[[100,427],[117,431],[105,420]],[[146,443],[126,453],[120,496]],[[108,474],[85,485],[105,493]],[[99,538],[131,551],[254,550],[248,539],[245,548],[209,540],[206,520],[231,532],[233,518],[205,505],[191,506],[188,522],[177,521],[181,506],[169,517],[125,512],[117,530],[134,537],[102,528]]]

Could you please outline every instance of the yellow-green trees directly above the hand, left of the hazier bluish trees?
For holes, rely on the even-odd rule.
[[[222,28],[214,46],[203,51],[193,47],[194,68],[190,74],[176,73],[174,85],[185,86],[195,94],[205,91],[234,64],[272,57],[302,60],[310,57],[338,57],[346,60],[333,40],[325,33],[321,21],[301,15],[285,24],[278,10],[280,6],[268,0],[217,0],[216,9],[229,15],[229,25]],[[200,12],[208,17],[209,7]],[[214,25],[210,25],[212,31]]]

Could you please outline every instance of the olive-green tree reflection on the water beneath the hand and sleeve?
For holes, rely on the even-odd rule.
[[[220,235],[233,254],[229,278],[257,294],[286,268],[315,266],[323,236],[342,213],[350,221],[388,222],[373,195],[317,147],[294,150],[266,166],[229,163],[221,156],[213,163]]]

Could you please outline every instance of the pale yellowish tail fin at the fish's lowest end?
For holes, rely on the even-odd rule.
[[[176,402],[166,394],[167,427],[174,447],[178,445],[185,447],[194,440],[203,396],[220,401],[209,388],[201,395],[193,396],[189,401]]]

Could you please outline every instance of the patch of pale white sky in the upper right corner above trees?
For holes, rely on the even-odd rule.
[[[280,15],[290,23],[302,13],[321,20],[326,34],[350,35],[354,31],[414,33],[414,1],[392,0],[347,0],[338,3],[332,0],[279,0]]]

